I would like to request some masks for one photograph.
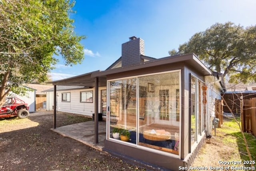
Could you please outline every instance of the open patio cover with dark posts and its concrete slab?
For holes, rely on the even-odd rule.
[[[99,87],[106,87],[107,81],[106,81],[106,76],[100,76],[100,77],[93,77],[92,74],[96,74],[100,72],[94,71],[90,72],[87,74],[82,74],[79,76],[74,76],[71,78],[66,78],[63,80],[57,80],[51,82],[54,85],[54,121],[53,121],[53,131],[56,131],[64,136],[67,137],[72,137],[77,135],[78,141],[86,141],[86,137],[89,137],[90,135],[94,135],[94,144],[99,143],[99,121],[98,121],[98,101],[99,101]],[[61,129],[58,128],[56,129],[56,106],[57,106],[57,99],[56,99],[56,86],[57,85],[66,85],[66,86],[84,86],[84,87],[94,87],[94,97],[95,97],[95,103],[94,103],[94,121],[89,121],[88,123],[80,123],[80,124],[75,124],[75,125],[68,125],[64,126]],[[106,122],[104,124],[100,124],[100,128],[106,130]],[[93,129],[94,128],[94,129]],[[87,131],[87,132],[86,132]],[[81,135],[81,132],[85,135]],[[102,132],[101,132],[102,133]],[[81,140],[81,136],[84,137]],[[105,133],[105,138],[106,138],[106,133]],[[90,138],[87,139],[87,141],[92,141]],[[90,143],[83,142],[87,145],[90,145]],[[90,145],[92,146],[92,145]],[[101,148],[101,147],[100,147]],[[98,149],[98,148],[96,148]]]

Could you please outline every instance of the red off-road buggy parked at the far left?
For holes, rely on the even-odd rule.
[[[16,117],[20,119],[29,116],[28,104],[17,97],[6,97],[6,102],[0,109],[0,118]]]

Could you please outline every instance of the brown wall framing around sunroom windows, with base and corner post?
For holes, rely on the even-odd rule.
[[[147,70],[148,69],[148,70]],[[107,76],[108,80],[116,79],[116,78],[125,78],[129,76],[137,76],[140,74],[150,74],[150,73],[156,73],[156,72],[164,72],[164,71],[170,71],[170,70],[179,70],[181,69],[181,88],[182,88],[182,94],[181,94],[181,105],[182,105],[182,120],[180,123],[181,126],[181,149],[180,149],[180,159],[176,159],[175,157],[168,156],[168,159],[162,160],[161,157],[164,155],[161,154],[151,154],[148,151],[145,151],[144,149],[138,149],[136,147],[130,147],[128,145],[120,145],[119,143],[113,142],[111,140],[105,141],[105,151],[108,151],[109,153],[116,154],[116,155],[128,155],[135,159],[142,159],[143,161],[153,163],[156,165],[161,165],[163,167],[166,167],[168,169],[176,170],[177,166],[187,165],[186,161],[193,161],[197,150],[197,146],[201,144],[205,136],[201,136],[198,138],[198,143],[196,146],[191,149],[191,125],[190,125],[190,79],[191,74],[198,78],[199,80],[202,80],[204,82],[204,76],[199,74],[198,72],[195,72],[194,69],[190,66],[184,66],[183,63],[178,64],[166,64],[165,66],[161,67],[154,67],[154,68],[147,68],[143,70],[136,70],[136,71],[130,71],[130,72],[123,72],[118,74],[112,74]],[[122,146],[122,149],[116,148],[118,145]],[[125,152],[129,151],[129,152]],[[192,155],[193,154],[193,155]],[[142,156],[141,156],[142,155]],[[151,156],[152,155],[152,156]],[[159,156],[158,156],[159,155]],[[140,156],[140,157],[138,157]],[[146,158],[143,156],[147,156]],[[151,157],[149,157],[151,156]],[[158,156],[158,157],[156,157]],[[166,157],[166,156],[165,156]],[[144,159],[145,158],[145,159]],[[154,161],[151,161],[150,159],[154,159]],[[159,159],[159,160],[158,160]],[[161,163],[162,161],[166,161],[166,163]],[[175,163],[175,164],[174,164]],[[184,164],[186,163],[186,164]]]

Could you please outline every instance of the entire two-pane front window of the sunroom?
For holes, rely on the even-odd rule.
[[[178,155],[180,79],[178,71],[110,81],[109,137]]]

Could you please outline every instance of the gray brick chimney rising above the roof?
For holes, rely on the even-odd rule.
[[[122,67],[139,64],[140,55],[144,55],[144,40],[132,36],[130,41],[122,44]]]

